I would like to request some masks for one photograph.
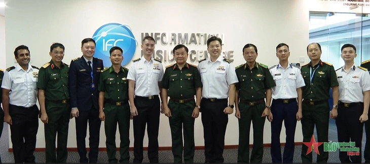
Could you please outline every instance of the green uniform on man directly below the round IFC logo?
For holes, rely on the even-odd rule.
[[[129,132],[130,132],[130,106],[128,104],[128,69],[121,67],[116,73],[113,67],[101,71],[98,90],[104,92],[104,128],[106,136],[106,153],[108,162],[117,163],[116,159],[116,130],[117,122],[120,132],[120,162],[128,163]]]

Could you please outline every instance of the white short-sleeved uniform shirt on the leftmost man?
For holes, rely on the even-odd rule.
[[[9,104],[20,107],[32,107],[36,104],[39,70],[28,64],[27,71],[17,64],[15,69],[4,72],[2,88],[9,89]]]

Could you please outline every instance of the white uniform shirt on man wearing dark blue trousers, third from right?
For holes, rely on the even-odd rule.
[[[270,67],[276,86],[272,88],[272,99],[294,99],[298,97],[297,88],[305,86],[301,70],[289,64],[286,69],[280,64]]]

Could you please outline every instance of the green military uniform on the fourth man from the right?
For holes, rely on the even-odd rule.
[[[248,64],[235,69],[238,77],[236,90],[239,91],[239,148],[238,162],[249,162],[250,122],[253,121],[253,149],[250,162],[262,162],[264,153],[264,125],[266,117],[261,117],[265,110],[266,89],[275,85],[267,65],[255,63],[252,70]]]

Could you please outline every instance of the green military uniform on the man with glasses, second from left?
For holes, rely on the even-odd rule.
[[[67,138],[70,116],[68,92],[68,65],[61,62],[58,68],[51,60],[39,71],[37,88],[45,90],[45,110],[48,123],[45,123],[46,162],[66,162]],[[57,154],[55,140],[58,133]]]

